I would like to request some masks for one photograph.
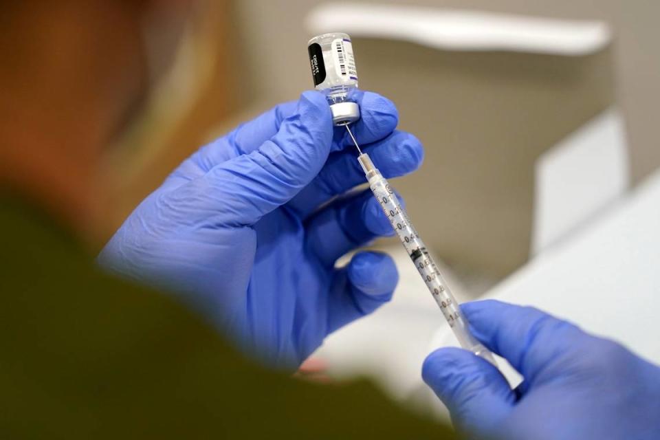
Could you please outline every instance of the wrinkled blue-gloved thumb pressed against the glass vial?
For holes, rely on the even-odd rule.
[[[215,166],[200,164],[205,173],[162,197],[162,203],[180,208],[168,212],[170,219],[252,226],[287,203],[316,177],[330,153],[333,127],[324,99],[303,94],[270,139],[255,148],[244,146],[236,157]]]

